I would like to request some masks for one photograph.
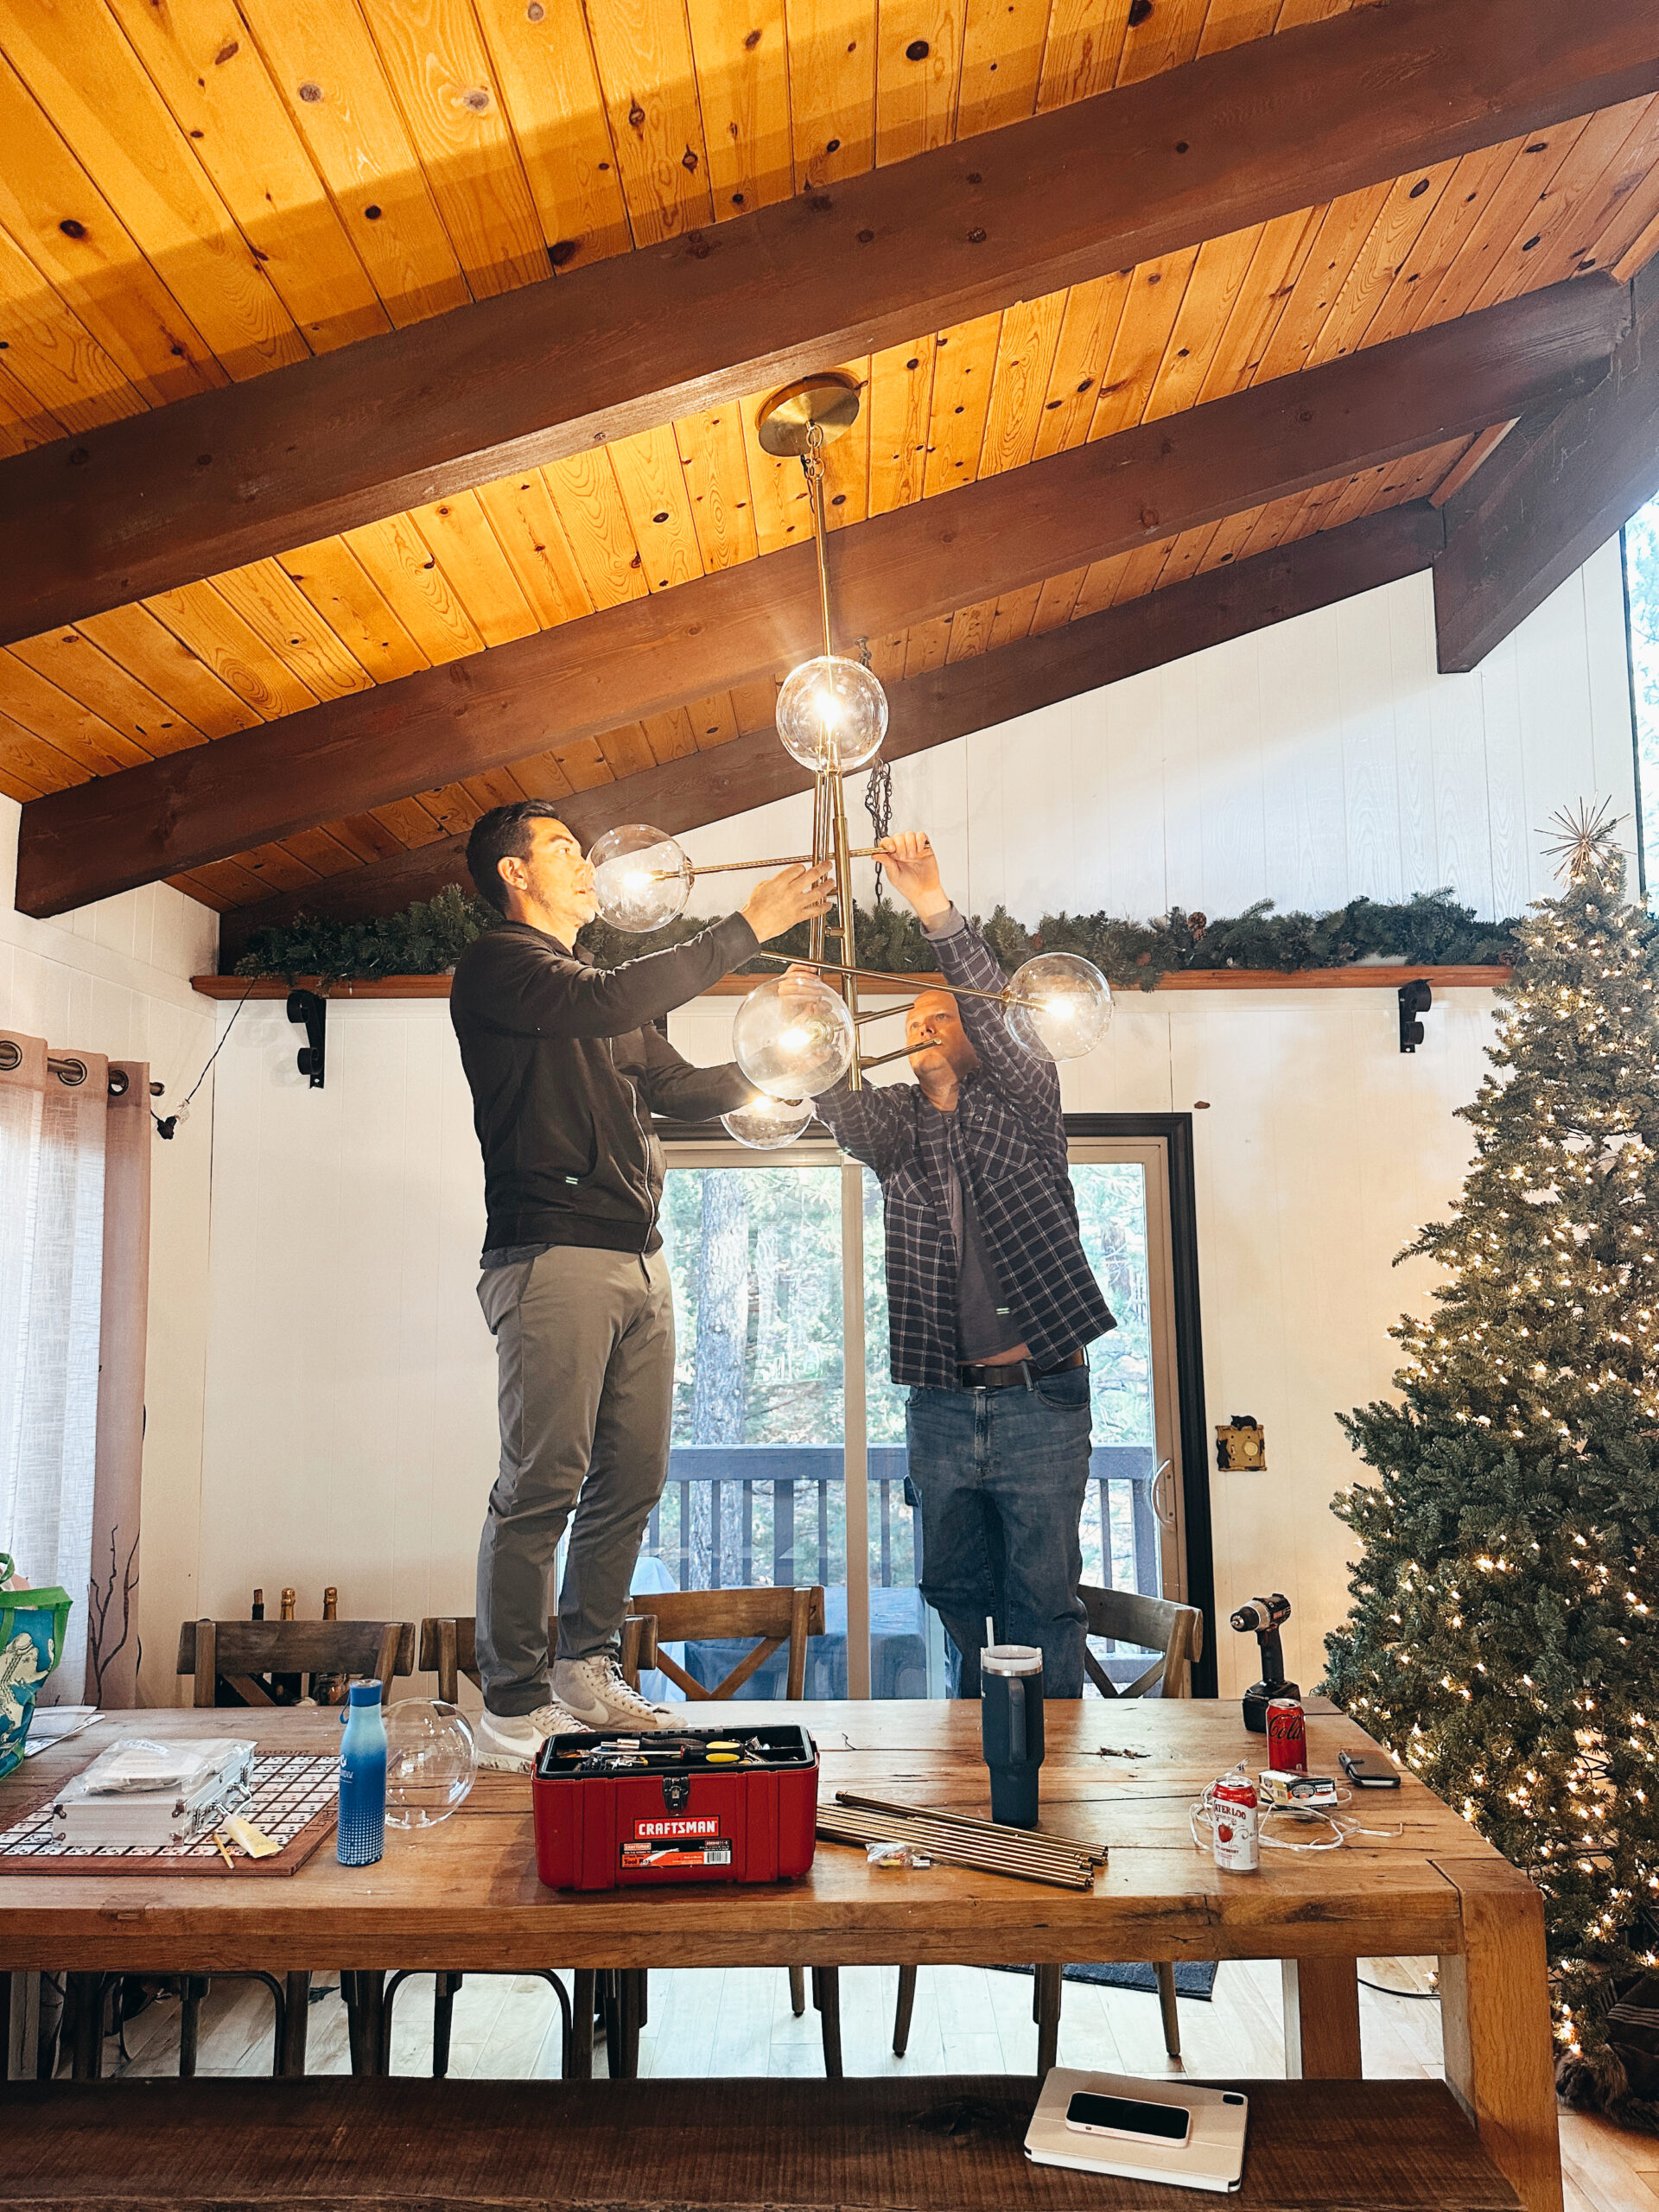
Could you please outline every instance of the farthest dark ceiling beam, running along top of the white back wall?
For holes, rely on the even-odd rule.
[[[953,661],[894,686],[885,757],[902,761],[911,752],[929,752],[953,737],[991,730],[1035,708],[1099,690],[1102,684],[1117,684],[1230,637],[1394,584],[1427,568],[1442,544],[1438,509],[1416,500],[1380,515],[1363,515],[1338,531],[1298,538],[1274,553],[1212,568],[1168,591],[1126,599],[1104,615],[1086,615],[1042,637]],[[754,730],[712,752],[646,768],[591,792],[573,792],[560,799],[560,810],[584,843],[617,821],[648,821],[679,834],[805,792],[810,781],[772,730]],[[396,914],[411,898],[431,898],[447,883],[467,883],[465,836],[374,860],[305,891],[265,898],[257,907],[234,907],[219,925],[221,964],[232,967],[241,958],[254,929],[292,922],[299,914],[349,920]]]

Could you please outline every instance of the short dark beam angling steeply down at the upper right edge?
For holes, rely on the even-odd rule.
[[[1440,668],[1478,668],[1659,493],[1659,261],[1632,288],[1610,374],[1551,420],[1511,431],[1447,504],[1433,571]]]

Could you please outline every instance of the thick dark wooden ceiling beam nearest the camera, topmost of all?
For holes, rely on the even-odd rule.
[[[0,465],[0,641],[1659,91],[1652,0],[1374,0]]]

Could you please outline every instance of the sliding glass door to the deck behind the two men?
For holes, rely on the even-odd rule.
[[[876,1179],[830,1144],[781,1159],[670,1144],[664,1241],[679,1352],[668,1489],[635,1588],[825,1586],[807,1697],[942,1697],[922,1604],[905,1391],[887,1374]],[[1084,1250],[1117,1316],[1091,1347],[1084,1579],[1186,1595],[1170,1157],[1164,1137],[1073,1141]],[[1113,1677],[1144,1661],[1099,1646]],[[737,1652],[692,1648],[717,1681]],[[781,1657],[748,1694],[781,1694]],[[774,1679],[776,1677],[776,1679]],[[659,1688],[661,1694],[661,1688]]]

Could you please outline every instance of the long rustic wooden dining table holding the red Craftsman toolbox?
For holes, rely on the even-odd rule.
[[[688,1714],[688,1719],[695,1719]],[[745,1723],[799,1721],[836,1790],[989,1814],[971,1703],[743,1705]],[[108,1714],[0,1781],[0,1827],[22,1818],[126,1734],[246,1728],[261,1750],[325,1752],[327,1710]],[[1310,1772],[1374,1750],[1340,1714],[1307,1719]],[[1356,1792],[1369,1829],[1340,1849],[1263,1849],[1259,1874],[1223,1874],[1194,1843],[1192,1805],[1237,1761],[1265,1765],[1234,1703],[1086,1699],[1046,1708],[1042,1827],[1106,1847],[1093,1889],[1071,1891],[931,1865],[874,1869],[818,1843],[799,1882],[544,1889],[531,1785],[480,1772],[445,1823],[387,1832],[374,1867],[341,1867],[332,1838],[292,1876],[248,1867],[188,1876],[0,1876],[0,1971],[234,1973],[347,1969],[524,1973],[533,1969],[1057,1964],[1084,1960],[1283,1962],[1287,2073],[1360,2077],[1356,1964],[1433,1955],[1447,2084],[1528,2212],[1559,2212],[1562,2159],[1537,1889],[1467,1820],[1405,1774]],[[1310,1829],[1274,1823],[1307,1840]],[[593,2022],[577,2006],[577,2070]]]

